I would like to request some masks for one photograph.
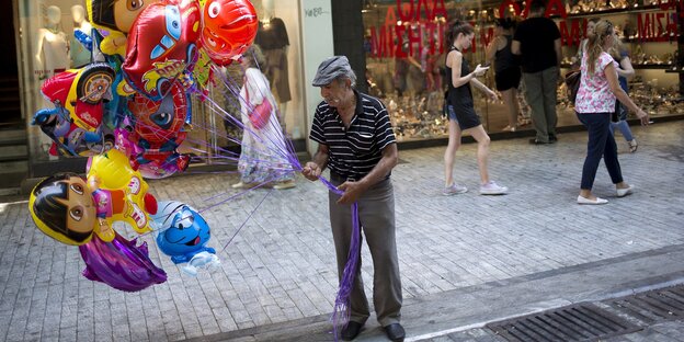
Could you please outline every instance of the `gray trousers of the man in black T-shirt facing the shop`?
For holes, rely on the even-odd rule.
[[[539,72],[523,72],[525,98],[532,109],[532,124],[537,132],[537,140],[549,142],[556,137],[556,103],[558,102],[558,67],[550,67]]]

